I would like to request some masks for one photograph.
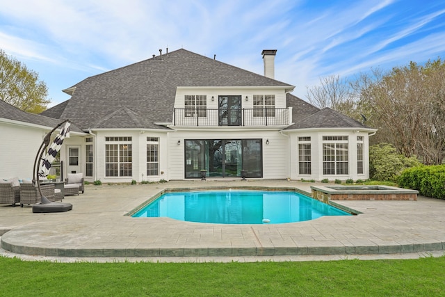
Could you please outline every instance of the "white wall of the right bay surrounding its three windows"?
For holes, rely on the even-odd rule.
[[[311,137],[311,161],[312,174],[301,175],[298,172],[298,138]],[[348,136],[348,174],[347,175],[323,175],[323,136]],[[363,136],[364,147],[364,173],[357,173],[357,136]],[[291,143],[290,170],[291,179],[305,179],[321,181],[322,179],[346,180],[346,179],[368,179],[369,178],[369,136],[367,132],[358,132],[351,129],[329,129],[329,130],[307,130],[292,131],[289,133]],[[335,141],[332,141],[335,142]]]

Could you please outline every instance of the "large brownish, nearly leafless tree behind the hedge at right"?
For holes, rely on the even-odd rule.
[[[445,63],[411,62],[373,77],[360,77],[358,106],[373,115],[380,135],[404,156],[440,164],[445,150]]]

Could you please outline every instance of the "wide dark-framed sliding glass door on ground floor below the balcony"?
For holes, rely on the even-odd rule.
[[[186,178],[200,177],[262,177],[261,139],[207,139],[186,140]]]

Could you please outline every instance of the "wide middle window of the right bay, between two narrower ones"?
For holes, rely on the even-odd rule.
[[[323,142],[323,175],[347,175],[348,136],[323,136],[323,141],[330,141]]]

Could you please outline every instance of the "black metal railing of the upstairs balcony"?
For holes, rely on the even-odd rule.
[[[175,109],[175,126],[288,126],[291,109]]]

